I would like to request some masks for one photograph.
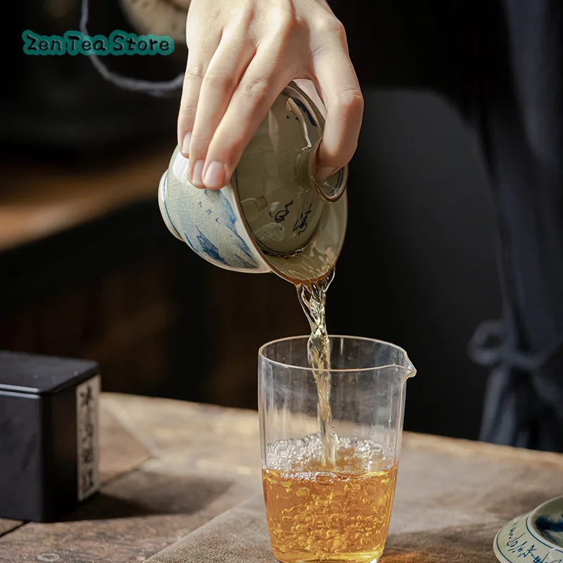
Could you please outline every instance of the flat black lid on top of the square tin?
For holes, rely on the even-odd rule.
[[[0,350],[0,393],[56,393],[97,374],[99,365],[89,360]]]

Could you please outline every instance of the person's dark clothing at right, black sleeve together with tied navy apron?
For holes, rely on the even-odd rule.
[[[563,452],[561,1],[331,5],[363,87],[432,89],[472,127],[498,213],[504,301],[470,346],[492,369],[481,439]]]

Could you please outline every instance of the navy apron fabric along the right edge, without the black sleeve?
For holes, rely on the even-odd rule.
[[[503,8],[509,82],[498,99],[485,90],[477,129],[498,209],[505,286],[481,438],[561,452],[562,6],[505,1]]]

